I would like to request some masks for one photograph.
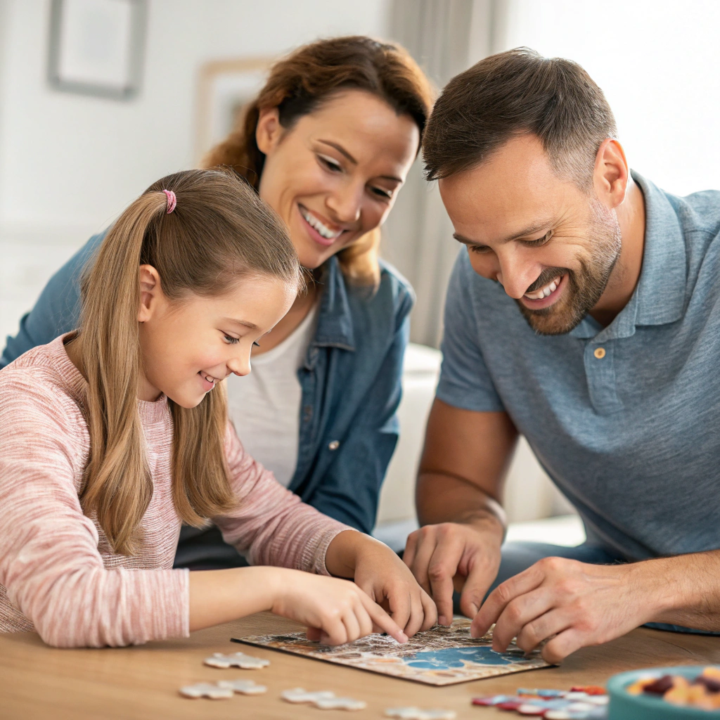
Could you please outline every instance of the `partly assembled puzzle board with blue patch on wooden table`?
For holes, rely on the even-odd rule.
[[[453,685],[549,667],[538,652],[526,657],[514,643],[507,652],[494,652],[490,647],[491,634],[477,639],[470,637],[470,621],[467,618],[456,618],[450,627],[436,625],[418,633],[404,645],[390,636],[374,634],[340,647],[328,647],[309,642],[304,632],[256,635],[233,638],[233,641],[428,685]]]

